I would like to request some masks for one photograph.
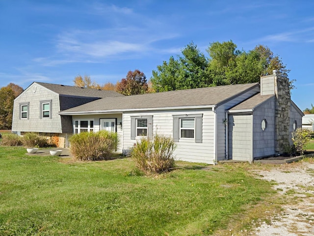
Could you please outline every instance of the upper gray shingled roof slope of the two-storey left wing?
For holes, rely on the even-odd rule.
[[[82,97],[121,97],[124,96],[115,91],[108,91],[108,90],[100,90],[100,89],[86,89],[80,88],[76,86],[68,86],[68,85],[56,85],[56,84],[49,84],[49,83],[42,83],[42,82],[35,82],[47,89],[50,89],[60,95],[69,95],[69,96],[82,96]]]

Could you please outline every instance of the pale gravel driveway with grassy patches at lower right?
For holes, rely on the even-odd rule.
[[[274,182],[287,204],[281,215],[262,224],[254,232],[257,236],[313,236],[314,235],[314,163],[299,162],[259,171],[262,179]]]

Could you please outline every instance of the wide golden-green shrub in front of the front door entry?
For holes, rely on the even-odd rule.
[[[109,153],[117,149],[118,135],[105,130],[82,132],[71,136],[70,143],[71,153],[78,160],[105,160]]]

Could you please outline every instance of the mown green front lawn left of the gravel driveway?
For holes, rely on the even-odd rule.
[[[0,147],[1,236],[210,235],[274,191],[241,166],[133,176],[131,159],[73,162]],[[253,207],[254,208],[254,207]]]

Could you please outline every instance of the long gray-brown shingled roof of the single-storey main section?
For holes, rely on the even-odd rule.
[[[259,86],[259,84],[229,85],[103,98],[65,110],[62,113],[217,105],[256,86]]]

